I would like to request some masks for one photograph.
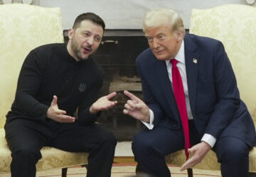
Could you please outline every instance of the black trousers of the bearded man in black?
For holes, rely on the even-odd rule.
[[[111,175],[114,149],[117,144],[112,133],[97,125],[58,123],[47,120],[17,119],[6,123],[6,140],[11,149],[11,176],[36,176],[36,163],[41,159],[43,146],[67,152],[89,152],[87,177]]]

